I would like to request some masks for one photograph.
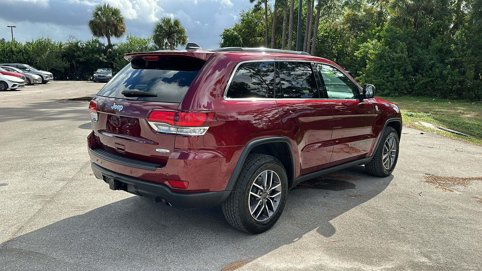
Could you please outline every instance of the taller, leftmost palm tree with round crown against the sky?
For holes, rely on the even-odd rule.
[[[125,18],[120,13],[120,9],[106,3],[95,6],[92,11],[92,20],[89,20],[87,25],[95,37],[107,38],[108,45],[111,45],[110,37],[119,39],[127,32]]]

